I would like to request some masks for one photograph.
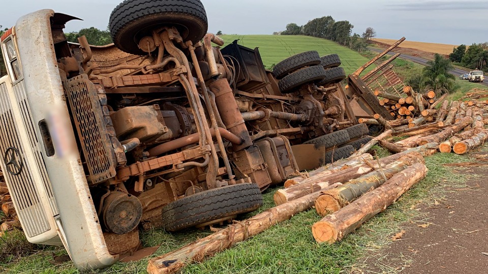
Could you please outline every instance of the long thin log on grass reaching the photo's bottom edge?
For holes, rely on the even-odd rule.
[[[273,225],[289,220],[300,212],[310,210],[319,195],[319,192],[312,193],[278,205],[177,250],[150,259],[146,270],[150,274],[179,273],[189,264],[201,262]]]

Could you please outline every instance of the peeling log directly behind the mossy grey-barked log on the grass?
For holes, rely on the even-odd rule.
[[[290,186],[285,189],[279,189],[273,199],[275,204],[283,204],[284,202],[294,200],[310,193],[320,191],[321,189],[333,185],[335,183],[344,183],[349,180],[356,179],[360,176],[368,174],[373,170],[380,168],[381,166],[386,166],[395,161],[398,161],[402,156],[407,155],[409,152],[401,152],[397,154],[390,155],[379,159],[378,161],[366,161],[364,164],[351,166],[347,169],[339,170],[333,174],[328,174],[326,176],[316,176],[315,178],[309,178],[306,181],[302,181],[300,184]]]

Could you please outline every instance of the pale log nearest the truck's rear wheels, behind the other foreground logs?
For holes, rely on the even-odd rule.
[[[295,178],[291,178],[286,180],[285,182],[285,188],[298,185],[300,183],[308,182],[308,181],[314,181],[314,180],[320,180],[321,178],[324,178],[326,176],[329,176],[331,174],[337,173],[341,170],[347,169],[351,166],[356,166],[363,164],[364,162],[368,161],[373,161],[373,156],[369,153],[364,153],[355,157],[349,157],[347,159],[342,159],[339,161],[336,161],[334,163],[327,164],[325,166],[319,167],[315,170],[312,170],[307,174],[308,177],[304,176],[298,176]]]

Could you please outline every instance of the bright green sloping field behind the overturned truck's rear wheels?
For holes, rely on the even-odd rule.
[[[224,39],[225,45],[231,44],[234,40],[239,40],[239,45],[252,49],[259,47],[259,53],[266,67],[277,64],[295,54],[310,50],[318,51],[320,56],[332,53],[339,54],[346,74],[353,73],[368,61],[359,53],[335,42],[309,36],[223,35],[221,38]]]

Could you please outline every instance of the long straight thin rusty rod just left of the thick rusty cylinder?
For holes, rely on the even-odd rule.
[[[210,122],[212,123],[212,129],[214,129],[215,138],[217,139],[217,145],[219,146],[222,160],[224,161],[224,165],[227,170],[227,175],[229,176],[230,180],[233,180],[235,176],[232,174],[232,169],[230,168],[229,158],[227,157],[227,153],[225,151],[224,142],[222,141],[222,136],[219,131],[219,125],[217,124],[216,115],[214,112],[214,107],[212,106],[212,100],[208,95],[207,86],[205,85],[205,80],[203,80],[202,71],[200,70],[200,65],[198,63],[197,55],[195,54],[195,48],[192,45],[191,41],[187,42],[188,49],[190,50],[190,55],[192,57],[193,66],[195,68],[195,72],[197,74],[198,84],[200,85],[200,90],[203,94],[203,98],[205,100],[205,106],[207,107],[208,116],[210,116]]]

